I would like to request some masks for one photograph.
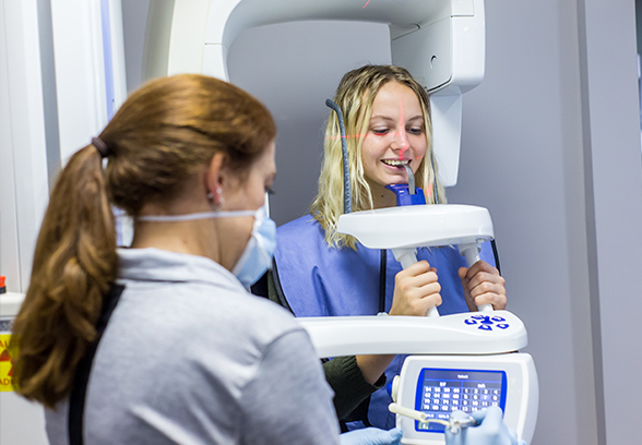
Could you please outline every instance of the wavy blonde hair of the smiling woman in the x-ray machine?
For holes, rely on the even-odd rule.
[[[368,133],[372,104],[383,85],[397,82],[409,87],[416,95],[424,113],[427,151],[415,173],[415,183],[424,189],[426,202],[435,204],[437,191],[439,203],[445,203],[445,193],[439,180],[437,165],[432,155],[432,125],[430,122],[430,100],[424,87],[413,79],[411,73],[394,65],[365,65],[346,73],[341,80],[334,101],[342,109],[345,121],[348,164],[350,172],[350,190],[353,212],[367,211],[373,207],[372,191],[364,173],[361,147]],[[342,135],[338,118],[330,112],[325,129],[324,156],[319,176],[317,197],[310,206],[310,213],[325,230],[325,242],[330,246],[350,246],[356,249],[354,237],[338,233],[336,224],[343,214],[343,169]]]

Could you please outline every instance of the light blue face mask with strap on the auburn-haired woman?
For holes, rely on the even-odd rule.
[[[249,289],[272,266],[272,256],[276,248],[276,224],[270,219],[265,207],[258,211],[237,212],[202,212],[188,215],[144,215],[140,221],[191,221],[209,218],[231,218],[237,216],[253,216],[254,226],[250,240],[243,253],[235,264],[231,273]]]

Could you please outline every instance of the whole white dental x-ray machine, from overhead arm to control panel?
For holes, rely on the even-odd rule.
[[[392,62],[430,93],[433,147],[445,187],[456,183],[462,94],[484,77],[483,0],[190,0],[154,2],[150,9],[143,75],[194,72],[229,80],[227,52],[245,29],[294,21],[385,23]],[[394,227],[394,233],[390,228]],[[477,244],[494,238],[485,208],[419,205],[345,214],[338,230],[365,246],[392,249],[405,267],[418,246],[457,244],[468,266]],[[508,425],[531,441],[538,405],[537,375],[522,322],[507,311],[438,317],[299,318],[319,357],[412,353],[395,380],[391,411],[403,443],[443,443],[454,409],[488,406],[504,411]],[[420,354],[420,356],[419,356]],[[450,426],[454,426],[452,422]]]

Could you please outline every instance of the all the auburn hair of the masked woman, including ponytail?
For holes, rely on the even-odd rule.
[[[54,407],[71,390],[117,276],[112,204],[136,216],[150,202],[168,202],[217,153],[243,177],[275,135],[263,105],[216,79],[164,77],[135,92],[99,135],[107,169],[103,147],[87,145],[52,190],[13,327],[16,392]]]

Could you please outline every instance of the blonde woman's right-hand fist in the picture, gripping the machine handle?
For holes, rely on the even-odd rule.
[[[485,261],[478,261],[473,267],[459,269],[466,304],[471,311],[477,311],[482,304],[492,304],[494,309],[506,309],[506,279],[499,270]]]

